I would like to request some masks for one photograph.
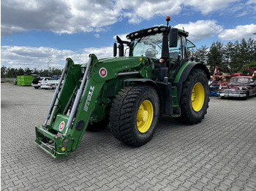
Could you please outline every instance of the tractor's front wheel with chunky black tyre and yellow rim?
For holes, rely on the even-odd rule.
[[[121,89],[110,110],[110,129],[124,144],[140,147],[154,134],[159,117],[159,97],[151,86]]]

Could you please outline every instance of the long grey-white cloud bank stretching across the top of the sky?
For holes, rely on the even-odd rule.
[[[12,0],[1,2],[1,34],[7,36],[29,30],[53,31],[58,34],[102,31],[127,17],[140,23],[156,15],[178,15],[193,9],[203,14],[227,11],[239,0]],[[244,6],[255,7],[250,0]],[[191,11],[191,10],[190,10]]]

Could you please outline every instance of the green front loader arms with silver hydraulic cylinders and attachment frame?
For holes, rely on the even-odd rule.
[[[97,95],[99,95],[104,82],[95,82],[89,75],[90,66],[93,62],[97,62],[97,58],[95,57],[96,59],[93,61],[93,57],[94,55],[90,55],[86,72],[83,75],[80,65],[75,65],[69,59],[69,67],[63,71],[66,74],[62,74],[62,76],[66,75],[64,83],[60,93],[59,89],[56,89],[53,95],[45,125],[36,127],[37,139],[35,142],[55,158],[65,157],[78,149],[94,111]],[[82,80],[78,79],[80,77]],[[58,103],[56,104],[57,99]],[[47,125],[53,106],[55,109],[50,124]]]

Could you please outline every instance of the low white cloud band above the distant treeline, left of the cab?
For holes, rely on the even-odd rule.
[[[113,47],[86,48],[83,52],[71,50],[58,50],[50,47],[1,47],[1,66],[11,68],[47,69],[50,67],[62,69],[66,58],[72,58],[76,64],[83,64],[89,60],[89,54],[94,53],[97,58],[109,58],[113,56]]]

